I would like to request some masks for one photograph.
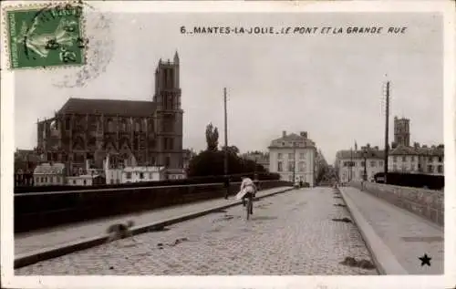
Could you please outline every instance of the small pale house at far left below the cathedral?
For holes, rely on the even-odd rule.
[[[34,172],[35,186],[50,186],[65,184],[65,164],[42,163],[37,165]]]

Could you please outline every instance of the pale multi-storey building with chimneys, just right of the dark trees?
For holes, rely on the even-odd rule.
[[[281,180],[304,181],[311,187],[315,184],[316,145],[307,139],[307,132],[274,139],[269,146],[269,171],[280,174]],[[293,176],[295,175],[295,180]]]

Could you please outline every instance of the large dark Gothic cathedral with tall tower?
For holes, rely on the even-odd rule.
[[[54,118],[38,121],[37,149],[71,175],[90,161],[103,167],[134,156],[140,166],[183,170],[180,59],[159,61],[150,101],[69,98]]]

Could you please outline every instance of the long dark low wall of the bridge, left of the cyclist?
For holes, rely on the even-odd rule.
[[[262,190],[291,186],[287,181],[260,181]],[[240,182],[230,184],[230,195]],[[150,188],[15,194],[15,232],[81,222],[130,212],[142,212],[193,201],[223,198],[223,183]]]

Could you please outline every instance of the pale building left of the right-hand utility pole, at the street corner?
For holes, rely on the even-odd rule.
[[[361,150],[337,151],[335,168],[338,180],[340,182],[362,181],[365,158],[367,180],[371,181],[376,173],[384,171],[383,150],[378,150],[378,147],[371,148],[368,145]]]

